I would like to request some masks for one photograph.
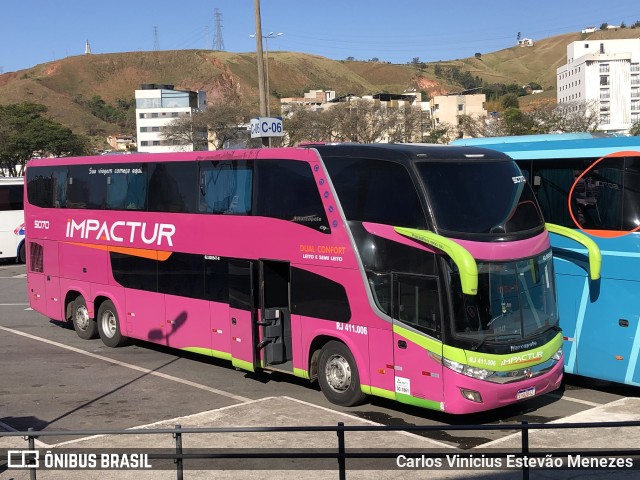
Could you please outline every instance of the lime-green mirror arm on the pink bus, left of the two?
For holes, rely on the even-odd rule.
[[[462,292],[467,295],[478,293],[478,265],[466,248],[450,238],[426,230],[404,227],[393,227],[393,229],[400,235],[431,245],[449,255],[460,272]]]

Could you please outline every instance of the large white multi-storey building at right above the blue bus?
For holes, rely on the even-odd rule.
[[[556,75],[558,103],[593,103],[600,130],[628,133],[640,122],[640,38],[572,42]]]

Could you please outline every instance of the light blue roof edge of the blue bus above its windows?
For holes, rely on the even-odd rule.
[[[490,148],[506,153],[514,160],[600,158],[614,152],[640,151],[640,137],[565,133],[466,138],[454,140],[452,145],[473,145]]]

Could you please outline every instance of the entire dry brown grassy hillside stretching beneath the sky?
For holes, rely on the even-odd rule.
[[[536,82],[541,95],[523,97],[521,105],[555,102],[556,68],[566,63],[566,46],[576,40],[638,38],[640,29],[567,33],[535,40],[532,47],[514,46],[497,52],[426,64],[418,75],[413,65],[337,61],[296,52],[269,52],[272,111],[278,98],[298,97],[311,89],[335,90],[338,95],[378,92],[402,93],[416,88],[430,95],[461,90],[435,75],[436,65],[457,66],[488,83]],[[130,101],[143,83],[173,84],[177,89],[204,90],[215,101],[225,85],[233,84],[257,107],[255,53],[179,50],[82,55],[0,75],[0,103],[34,102],[49,108],[52,119],[76,133],[105,135],[122,130],[92,115],[82,104],[98,95],[107,104]],[[132,123],[132,122],[131,122]],[[133,133],[135,126],[129,126]]]

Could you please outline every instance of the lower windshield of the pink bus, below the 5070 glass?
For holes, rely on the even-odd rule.
[[[551,251],[511,262],[478,262],[478,294],[463,295],[455,264],[454,336],[475,345],[526,340],[558,324]],[[480,342],[480,343],[479,343]]]

